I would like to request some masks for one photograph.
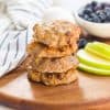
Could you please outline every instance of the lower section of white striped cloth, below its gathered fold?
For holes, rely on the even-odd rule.
[[[0,77],[15,68],[24,58],[28,30],[7,31],[0,40]]]

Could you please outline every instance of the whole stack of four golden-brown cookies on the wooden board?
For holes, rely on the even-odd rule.
[[[28,52],[29,79],[48,86],[69,84],[77,79],[75,56],[80,29],[67,21],[35,24],[33,42]]]

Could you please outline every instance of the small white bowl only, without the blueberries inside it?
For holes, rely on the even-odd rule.
[[[102,38],[110,38],[110,23],[95,23],[87,21],[78,15],[80,10],[75,12],[75,19],[82,29],[85,29],[91,35]]]

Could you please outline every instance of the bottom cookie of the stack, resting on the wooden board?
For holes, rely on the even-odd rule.
[[[28,77],[35,82],[43,82],[47,86],[57,86],[64,84],[70,84],[77,79],[77,70],[69,69],[63,74],[54,73],[38,73],[35,70],[29,70]]]

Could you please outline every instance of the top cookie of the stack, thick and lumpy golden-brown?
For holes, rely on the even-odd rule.
[[[63,47],[77,42],[80,29],[68,21],[54,21],[52,23],[35,24],[34,40],[50,47]]]

